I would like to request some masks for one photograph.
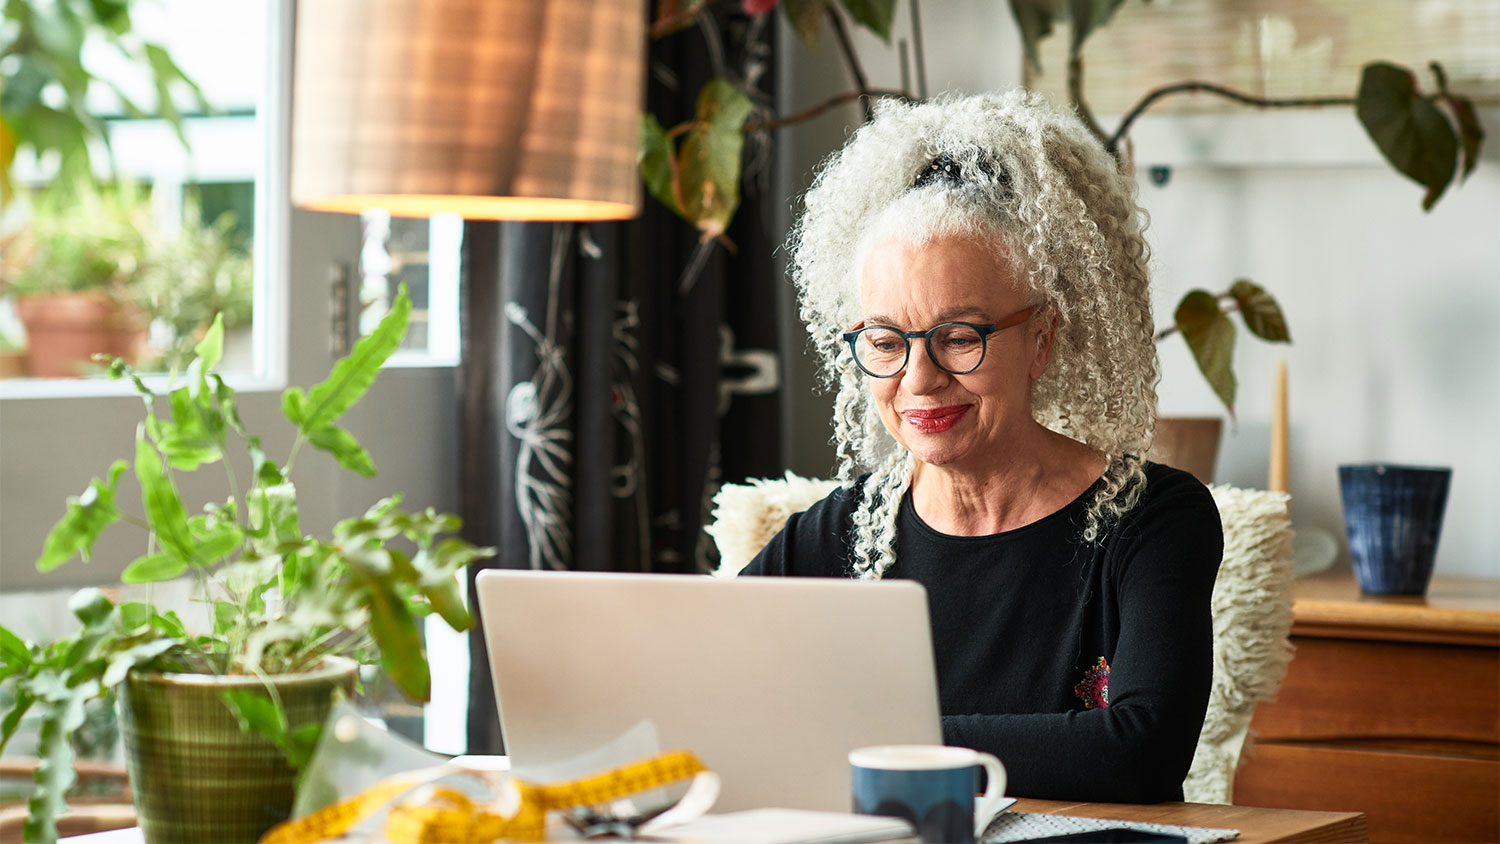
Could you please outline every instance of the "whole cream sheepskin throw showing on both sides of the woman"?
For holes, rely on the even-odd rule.
[[[792,513],[807,510],[837,481],[802,478],[724,484],[714,496],[716,577],[734,577]],[[1228,804],[1256,705],[1281,687],[1292,661],[1292,523],[1280,492],[1210,487],[1224,522],[1224,562],[1214,583],[1214,688],[1184,798]]]

